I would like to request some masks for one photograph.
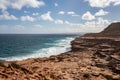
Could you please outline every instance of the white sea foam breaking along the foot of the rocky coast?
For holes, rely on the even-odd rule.
[[[7,58],[0,58],[0,60],[5,61],[16,61],[16,60],[24,60],[28,58],[42,58],[42,57],[50,57],[51,55],[58,55],[60,53],[64,53],[71,50],[71,41],[73,40],[73,37],[66,37],[65,39],[60,39],[54,42],[52,44],[52,47],[49,48],[42,48],[37,51],[33,51],[32,54],[22,55],[22,56],[13,56],[13,57],[7,57]],[[50,43],[46,45],[51,45]]]

